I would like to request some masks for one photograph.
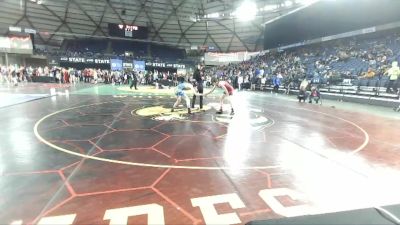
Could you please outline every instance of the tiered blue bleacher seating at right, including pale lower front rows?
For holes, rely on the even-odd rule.
[[[298,89],[301,80],[306,77],[323,94],[358,96],[374,101],[388,99],[392,102],[398,101],[399,93],[386,92],[389,78],[384,72],[394,60],[400,61],[400,34],[392,30],[281,52],[272,51],[248,62],[222,67],[222,70],[226,70],[224,74],[232,71],[237,74],[239,70],[241,76],[253,76],[254,71],[264,65],[266,82],[256,86],[260,90],[272,90],[273,77],[281,74],[282,90],[289,83],[292,90]],[[372,77],[367,73],[369,70],[374,72]],[[397,83],[399,86],[400,80]]]

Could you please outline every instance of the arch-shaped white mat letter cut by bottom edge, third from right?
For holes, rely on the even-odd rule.
[[[133,206],[120,209],[109,209],[104,214],[104,220],[110,220],[110,225],[128,224],[130,216],[148,215],[148,224],[163,225],[164,209],[158,204]]]

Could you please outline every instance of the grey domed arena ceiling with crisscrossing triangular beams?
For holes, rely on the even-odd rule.
[[[32,28],[38,31],[36,43],[59,46],[64,38],[108,36],[108,23],[124,23],[147,26],[149,40],[154,42],[187,49],[207,45],[220,52],[254,51],[262,49],[265,22],[302,6],[301,0],[253,0],[258,9],[268,5],[278,8],[259,11],[254,20],[241,22],[230,13],[242,2],[0,0],[0,33],[9,34],[9,26]],[[224,16],[205,18],[213,13]]]

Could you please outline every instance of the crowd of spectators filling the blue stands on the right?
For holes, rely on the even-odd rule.
[[[387,81],[385,72],[399,56],[400,35],[392,32],[266,52],[249,61],[209,68],[206,74],[225,76],[238,88],[251,89],[265,84],[298,87],[304,78],[316,85],[340,84],[344,79]],[[396,83],[387,92],[397,92]]]

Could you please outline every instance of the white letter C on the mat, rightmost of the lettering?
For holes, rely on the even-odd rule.
[[[261,190],[258,195],[275,213],[281,216],[293,217],[311,214],[311,209],[307,205],[285,207],[276,199],[278,196],[289,196],[293,200],[304,199],[303,195],[288,188],[265,189]]]

